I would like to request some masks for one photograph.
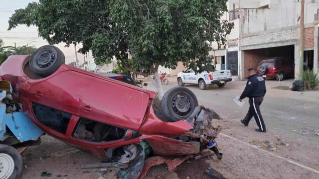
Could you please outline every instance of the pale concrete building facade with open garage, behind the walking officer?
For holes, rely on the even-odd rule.
[[[228,20],[234,29],[226,46],[227,69],[244,79],[246,69],[257,67],[265,57],[284,56],[294,60],[299,74],[300,0],[229,0]],[[318,70],[318,0],[304,3],[305,68]]]

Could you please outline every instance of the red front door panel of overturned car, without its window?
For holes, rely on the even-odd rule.
[[[91,120],[138,130],[148,101],[149,94],[136,86],[95,77],[88,86],[78,113]]]

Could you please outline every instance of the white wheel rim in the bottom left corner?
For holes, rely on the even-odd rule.
[[[14,169],[14,159],[7,153],[0,153],[0,179],[9,178]]]

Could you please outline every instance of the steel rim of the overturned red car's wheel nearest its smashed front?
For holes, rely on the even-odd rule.
[[[192,105],[189,98],[190,96],[182,92],[173,97],[172,108],[178,116],[185,117],[187,114],[190,113]]]

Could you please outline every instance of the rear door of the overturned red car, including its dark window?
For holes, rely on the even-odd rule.
[[[88,75],[66,70],[33,85],[28,98],[34,118],[42,129],[53,135],[65,134],[91,82]]]

